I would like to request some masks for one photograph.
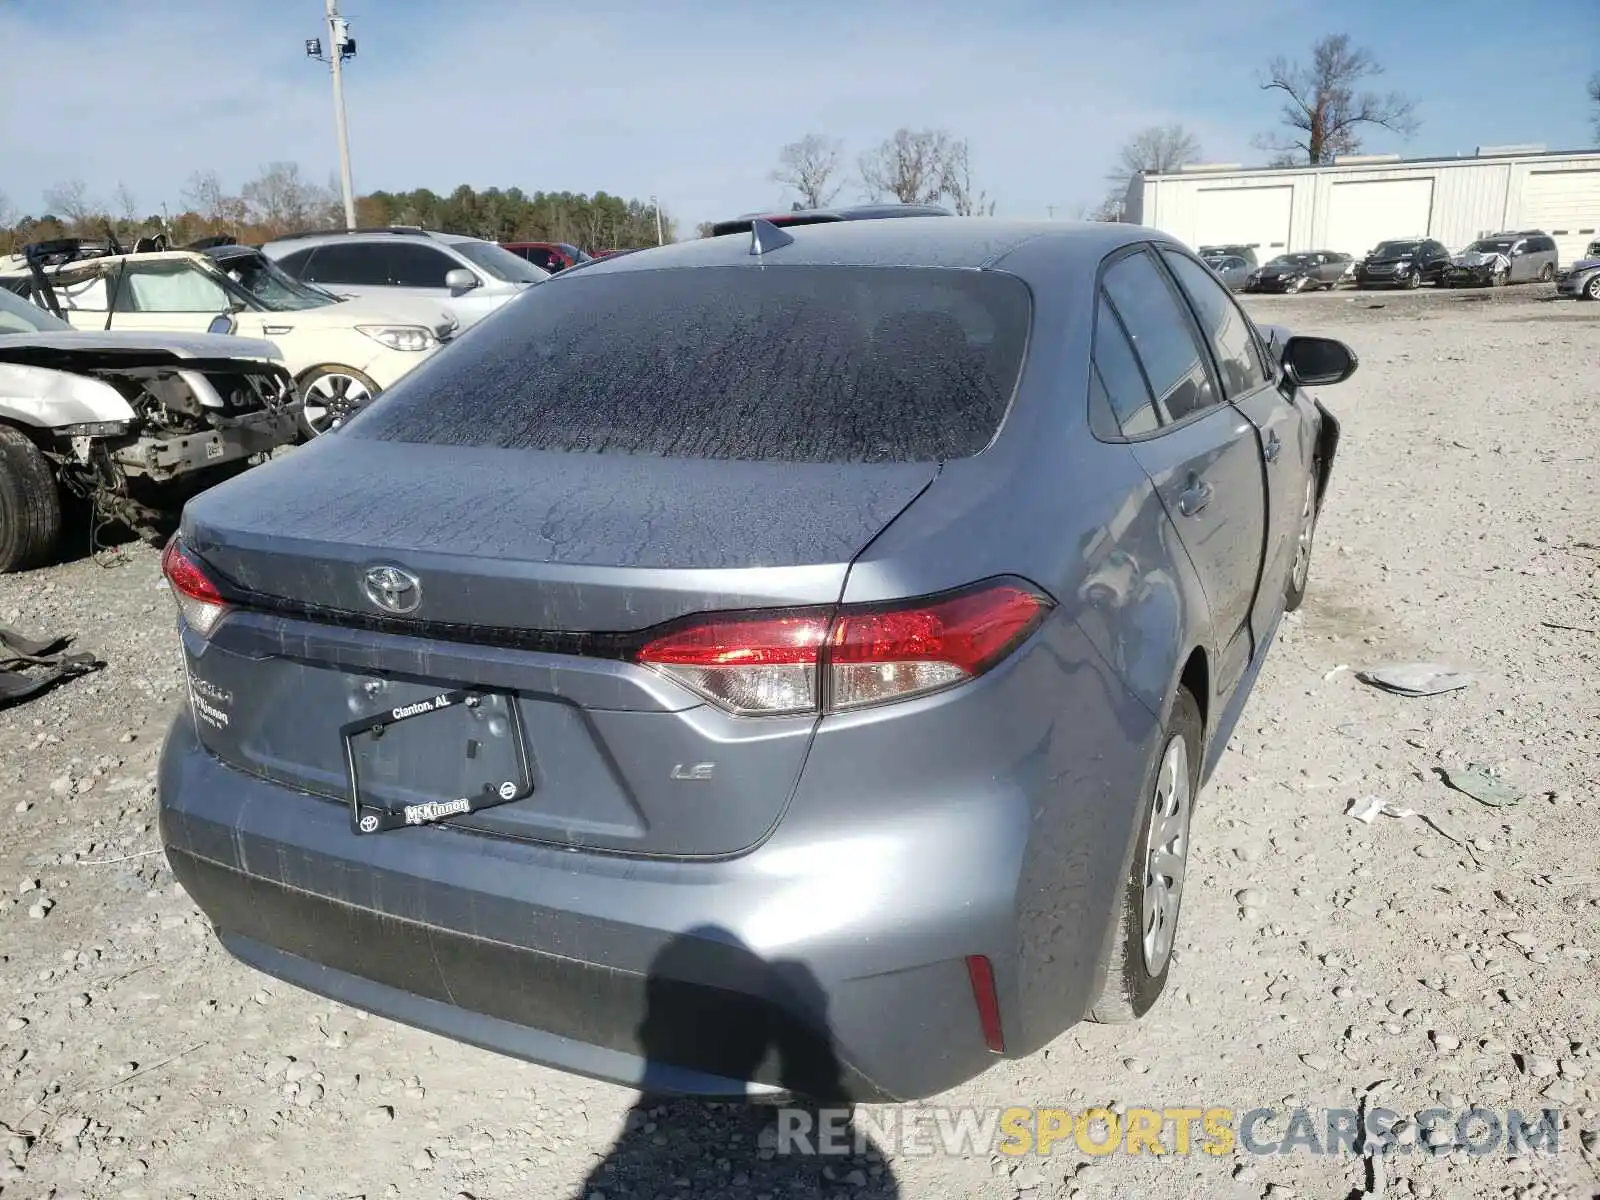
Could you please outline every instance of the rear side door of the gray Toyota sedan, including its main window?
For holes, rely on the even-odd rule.
[[[1154,400],[1157,427],[1131,435],[1131,448],[1211,605],[1222,696],[1254,648],[1251,606],[1266,531],[1256,429],[1226,402],[1187,304],[1150,250],[1115,258],[1102,274],[1102,290]]]

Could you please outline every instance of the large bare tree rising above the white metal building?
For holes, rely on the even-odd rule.
[[[1416,102],[1398,91],[1357,91],[1362,80],[1382,75],[1371,51],[1350,45],[1349,34],[1330,34],[1312,46],[1310,66],[1278,56],[1267,64],[1262,91],[1282,91],[1290,134],[1264,134],[1256,146],[1294,154],[1317,165],[1362,149],[1362,133],[1376,126],[1410,138],[1421,122]]]

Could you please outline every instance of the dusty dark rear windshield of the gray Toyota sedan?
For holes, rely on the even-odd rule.
[[[555,277],[408,374],[349,437],[774,462],[981,451],[1022,370],[1011,275],[698,267]]]

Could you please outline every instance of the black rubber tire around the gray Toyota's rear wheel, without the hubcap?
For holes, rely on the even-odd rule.
[[[1187,690],[1179,690],[1173,699],[1173,712],[1166,718],[1162,734],[1162,749],[1144,779],[1144,792],[1139,803],[1139,842],[1133,851],[1133,867],[1123,883],[1115,917],[1115,941],[1112,944],[1110,963],[1106,968],[1106,990],[1090,1010],[1090,1021],[1102,1026],[1118,1026],[1138,1021],[1160,998],[1166,987],[1166,976],[1171,973],[1173,952],[1176,950],[1178,917],[1182,914],[1182,886],[1178,888],[1176,909],[1171,917],[1170,938],[1171,949],[1160,960],[1160,968],[1152,971],[1144,947],[1144,898],[1146,875],[1150,861],[1152,813],[1157,803],[1157,784],[1163,776],[1166,755],[1174,741],[1184,744],[1184,762],[1187,763],[1187,803],[1182,816],[1182,859],[1184,875],[1189,874],[1189,824],[1194,816],[1195,798],[1200,792],[1200,755],[1205,744],[1205,726],[1200,722],[1200,706]]]

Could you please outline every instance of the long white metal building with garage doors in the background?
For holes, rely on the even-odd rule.
[[[1434,237],[1458,251],[1496,230],[1542,229],[1562,262],[1573,262],[1600,237],[1600,150],[1483,146],[1454,158],[1184,166],[1134,176],[1125,219],[1190,246],[1251,245],[1262,261],[1296,250],[1358,258],[1400,237]]]

